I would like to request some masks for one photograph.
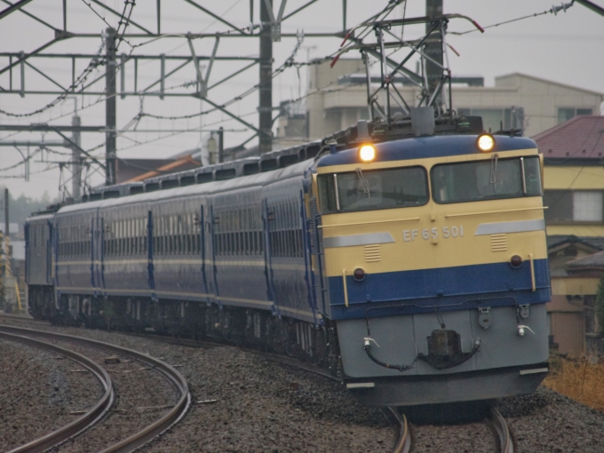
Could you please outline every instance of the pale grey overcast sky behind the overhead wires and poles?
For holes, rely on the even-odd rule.
[[[215,12],[237,27],[247,27],[250,22],[250,0],[196,0],[198,4]],[[258,4],[254,2],[254,21],[258,21]],[[117,27],[117,17],[104,11],[98,4],[88,5],[88,0],[68,2],[68,30],[76,33],[100,33],[107,28],[107,23]],[[106,4],[116,11],[123,10],[123,0],[104,0]],[[400,18],[403,14],[407,17],[422,16],[425,14],[425,0],[408,0],[405,12],[404,3],[397,6],[391,18]],[[594,3],[604,6],[603,0],[594,0]],[[274,9],[277,10],[281,0],[274,0]],[[294,11],[306,0],[289,0],[286,4],[285,14]],[[348,0],[347,27],[362,22],[372,14],[382,10],[385,0]],[[24,10],[36,15],[55,28],[63,28],[62,2],[60,0],[34,0]],[[4,7],[4,6],[3,6]],[[508,0],[506,2],[495,0],[444,0],[444,10],[447,13],[461,13],[473,18],[482,27],[497,24],[505,20],[513,20],[535,13],[546,12],[552,8],[552,0]],[[131,14],[131,20],[142,27],[156,30],[156,3],[150,0],[137,2]],[[1,20],[0,27],[0,52],[31,52],[39,46],[52,40],[54,33],[51,29],[32,20],[22,12],[13,12]],[[341,0],[318,0],[303,12],[286,20],[282,24],[284,33],[296,33],[304,30],[306,33],[335,32],[342,29],[342,2]],[[128,39],[120,45],[118,53],[132,52],[133,54],[189,56],[187,39],[183,36],[187,32],[214,33],[227,31],[228,27],[211,18],[211,16],[195,9],[183,0],[164,0],[162,2],[162,33],[177,35],[177,37],[164,37],[153,43],[148,43],[135,49],[136,44],[147,43],[148,39]],[[449,32],[463,32],[473,29],[465,20],[451,20]],[[423,26],[406,28],[405,38],[421,36]],[[137,28],[130,27],[128,32],[138,32]],[[604,17],[574,4],[567,12],[557,15],[547,13],[537,17],[518,20],[513,23],[501,25],[497,28],[488,28],[484,34],[479,32],[468,33],[464,36],[450,34],[447,42],[453,46],[460,56],[449,52],[449,62],[453,76],[484,76],[487,85],[494,84],[496,76],[520,72],[530,76],[542,77],[559,83],[567,83],[579,88],[604,93]],[[214,45],[213,38],[197,39],[195,53],[209,55]],[[341,39],[338,38],[311,38],[305,37],[295,60],[306,62],[308,59],[324,57],[338,50]],[[48,53],[96,53],[99,51],[101,40],[99,38],[72,38],[44,50]],[[290,56],[296,45],[295,38],[283,38],[280,43],[274,43],[274,68],[282,65]],[[224,37],[220,40],[218,55],[221,56],[258,56],[258,39]],[[71,67],[66,60],[31,60],[32,64],[40,71],[52,76],[63,86],[68,86],[71,81]],[[0,57],[0,68],[8,64],[8,59]],[[87,62],[81,60],[76,66],[76,76],[86,67]],[[242,62],[216,62],[211,71],[210,84],[228,76],[237,68],[242,68]],[[174,68],[176,63],[166,63],[166,72]],[[411,62],[409,68],[415,68]],[[100,67],[92,72],[88,80],[104,74],[105,68]],[[158,62],[147,62],[139,65],[139,88],[155,82],[160,74]],[[34,71],[27,72],[26,88],[44,89],[52,85]],[[133,67],[126,66],[126,89],[133,90]],[[192,65],[183,68],[166,82],[166,89],[171,92],[184,92],[190,88],[179,87],[183,83],[195,80],[195,69]],[[12,73],[13,88],[20,84],[19,68]],[[244,93],[254,84],[258,83],[258,67],[222,83],[211,90],[209,99],[219,104]],[[119,76],[118,76],[119,90]],[[0,86],[4,89],[9,86],[8,72],[0,75]],[[99,91],[104,88],[104,80],[97,85]],[[306,67],[298,72],[295,68],[285,70],[274,79],[274,106],[286,99],[298,97],[306,91]],[[27,95],[20,98],[19,94],[1,94],[0,109],[13,114],[27,114],[33,112],[54,99],[54,96]],[[12,117],[0,114],[1,124],[23,123],[52,123],[69,124],[73,115],[74,105],[77,103],[79,115],[83,125],[103,125],[105,123],[105,105],[99,96],[77,96],[76,99],[66,99],[56,107],[45,110],[41,114]],[[235,115],[241,115],[246,121],[258,125],[256,107],[258,105],[258,92],[253,92],[229,108]],[[117,128],[122,129],[131,119],[139,113],[141,108],[138,97],[117,99]],[[209,108],[207,103],[199,99],[186,98],[146,98],[142,103],[142,111],[155,115],[187,115],[195,114]],[[119,157],[156,157],[165,158],[181,151],[195,148],[200,141],[203,129],[213,129],[222,125],[226,133],[227,147],[242,143],[251,135],[240,123],[229,120],[221,113],[212,113],[189,120],[171,121],[144,118],[139,122],[138,133],[124,133],[117,140],[117,153]],[[187,132],[182,132],[187,130]],[[195,131],[191,131],[195,130]],[[173,131],[173,132],[172,132]],[[40,140],[42,135],[25,132],[0,132],[2,140]],[[60,139],[56,134],[46,133],[45,140]],[[82,147],[92,149],[93,154],[102,157],[105,153],[103,146],[105,136],[102,133],[83,133]],[[251,141],[255,144],[257,141]],[[24,147],[21,151],[26,152]],[[66,148],[53,148],[56,153],[66,153]],[[30,152],[34,152],[30,148]],[[13,164],[18,164],[21,157],[12,147],[0,147],[0,169]],[[9,187],[13,195],[25,194],[39,197],[44,191],[49,195],[58,194],[60,172],[57,162],[68,160],[67,155],[47,154],[44,152],[44,162],[40,162],[40,155],[31,164],[31,178],[25,182],[20,175],[23,167],[18,166],[13,170],[0,170],[0,186]],[[49,170],[50,169],[50,170]],[[18,178],[7,178],[18,177]],[[20,178],[19,178],[20,177]],[[64,173],[69,178],[69,173]],[[93,183],[102,181],[100,175],[93,179]]]

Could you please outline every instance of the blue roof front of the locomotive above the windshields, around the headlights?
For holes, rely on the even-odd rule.
[[[449,155],[487,154],[476,146],[478,135],[439,135],[399,139],[374,143],[376,158],[372,162],[403,161],[408,159],[425,159]],[[517,149],[535,149],[536,143],[525,137],[495,136],[495,148],[491,153],[514,151]],[[358,163],[358,147],[338,151],[337,154],[323,156],[317,166],[346,165]]]

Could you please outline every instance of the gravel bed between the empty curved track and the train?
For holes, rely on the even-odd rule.
[[[32,327],[107,341],[179,366],[195,404],[143,451],[382,452],[391,451],[395,441],[381,410],[363,407],[336,382],[257,354],[232,347],[174,346],[102,330]],[[216,401],[197,403],[210,400]],[[115,429],[108,428],[106,435],[114,436]]]

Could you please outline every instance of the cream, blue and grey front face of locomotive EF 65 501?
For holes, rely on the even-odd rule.
[[[418,376],[447,378],[439,402],[526,393],[544,377],[539,155],[529,139],[480,143],[406,139],[375,145],[369,161],[354,149],[319,162],[325,311],[367,403],[430,401]]]

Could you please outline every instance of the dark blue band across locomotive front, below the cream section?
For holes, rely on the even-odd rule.
[[[514,269],[508,263],[443,267],[413,271],[367,274],[362,282],[346,276],[348,307],[342,277],[330,277],[331,319],[354,319],[389,314],[415,314],[442,310],[466,310],[474,306],[539,304],[550,300],[547,259],[533,261],[536,290],[532,290],[530,263]],[[497,278],[493,278],[497,275]],[[405,303],[408,301],[409,303]],[[373,310],[388,302],[401,307]],[[384,304],[386,303],[386,304]],[[470,305],[468,305],[470,304]],[[369,313],[367,310],[371,308]]]

